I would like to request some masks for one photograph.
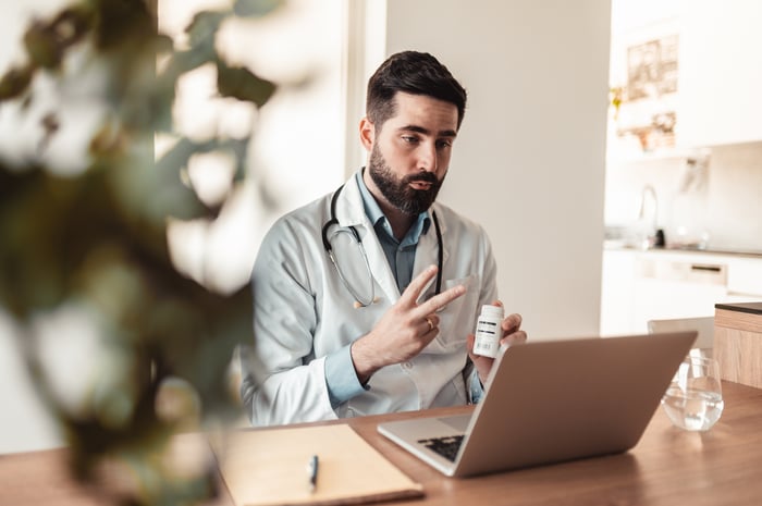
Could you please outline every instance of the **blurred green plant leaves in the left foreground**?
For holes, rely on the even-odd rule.
[[[183,403],[197,399],[201,419],[239,409],[228,368],[235,346],[250,340],[249,291],[218,294],[180,274],[167,226],[170,219],[213,220],[220,211],[221,203],[205,206],[183,177],[188,159],[232,153],[233,184],[241,184],[249,138],[184,137],[174,131],[172,106],[177,79],[209,63],[217,67],[219,96],[263,106],[275,85],[230,65],[214,40],[225,20],[263,16],[279,4],[238,0],[199,12],[186,29],[187,45],[177,49],[158,33],[151,3],[79,0],[49,20],[33,21],[23,38],[25,63],[0,79],[0,108],[16,102],[27,110],[37,99],[35,78],[62,78],[72,51],[88,47],[87,58],[106,69],[93,100],[106,103],[107,114],[93,134],[87,166],[60,175],[40,162],[44,157],[0,165],[0,307],[22,329],[36,386],[72,448],[74,476],[109,501],[192,504],[214,494],[209,469],[172,477],[157,455],[185,427],[172,406],[183,411]],[[46,140],[70,126],[56,113],[41,120]],[[159,160],[156,133],[176,139]],[[40,143],[40,153],[45,148]],[[76,410],[57,396],[32,331],[37,318],[71,304],[97,314],[121,363]],[[181,399],[157,409],[171,379],[182,380],[175,384]],[[113,483],[105,476],[113,477],[114,469],[134,483],[125,489],[119,479],[121,485],[109,490]]]

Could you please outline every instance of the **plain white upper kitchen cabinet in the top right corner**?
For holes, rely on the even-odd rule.
[[[684,0],[679,17],[678,143],[762,139],[762,2]]]

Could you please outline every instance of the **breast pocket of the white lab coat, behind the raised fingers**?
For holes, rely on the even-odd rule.
[[[451,301],[437,314],[440,318],[439,334],[427,346],[429,353],[451,353],[466,345],[466,336],[474,333],[479,308],[479,276],[471,274],[467,277],[444,281],[443,289],[464,285],[466,293]]]

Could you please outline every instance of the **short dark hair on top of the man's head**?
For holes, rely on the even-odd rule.
[[[380,129],[395,113],[397,91],[426,95],[457,108],[457,126],[466,113],[466,89],[446,66],[428,52],[403,51],[392,54],[368,81],[366,114]]]

